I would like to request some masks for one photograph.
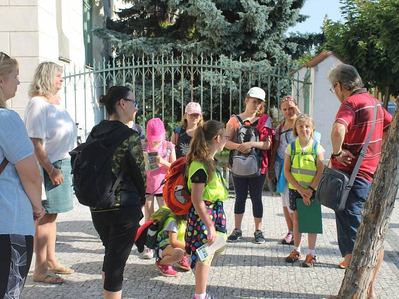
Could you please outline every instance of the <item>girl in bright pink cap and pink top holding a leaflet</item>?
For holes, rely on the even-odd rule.
[[[145,221],[150,220],[151,214],[154,213],[154,197],[157,198],[158,206],[165,205],[161,185],[166,173],[171,164],[176,161],[175,145],[165,140],[165,126],[159,118],[154,118],[147,123],[147,141],[143,144],[143,151],[154,152],[157,151],[156,161],[159,168],[155,170],[146,170],[147,172],[147,200],[144,206]],[[146,249],[142,258],[152,259],[154,255],[153,250]]]

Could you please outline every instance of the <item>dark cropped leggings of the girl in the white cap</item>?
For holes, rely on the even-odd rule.
[[[255,177],[236,177],[233,175],[235,191],[234,214],[245,212],[245,201],[248,196],[252,201],[252,214],[255,218],[263,217],[262,191],[265,183],[266,174]]]

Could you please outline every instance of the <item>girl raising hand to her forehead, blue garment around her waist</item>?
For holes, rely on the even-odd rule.
[[[284,176],[284,157],[285,149],[295,140],[293,135],[293,128],[297,116],[301,114],[298,109],[297,103],[290,96],[285,96],[280,100],[280,109],[284,116],[284,121],[281,122],[276,128],[276,135],[274,136],[273,150],[270,158],[268,180],[277,177],[276,191],[281,194],[283,203],[283,212],[285,222],[287,223],[288,233],[281,240],[282,244],[294,244],[293,235],[293,211],[290,209],[289,195],[288,195],[288,182]],[[274,171],[273,171],[274,170]]]

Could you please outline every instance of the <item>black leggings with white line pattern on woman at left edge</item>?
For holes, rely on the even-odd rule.
[[[19,298],[33,255],[33,236],[0,235],[0,298]]]

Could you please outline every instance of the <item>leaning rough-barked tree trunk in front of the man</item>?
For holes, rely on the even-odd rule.
[[[399,105],[383,145],[355,248],[337,299],[366,299],[399,186]]]

